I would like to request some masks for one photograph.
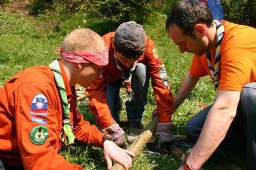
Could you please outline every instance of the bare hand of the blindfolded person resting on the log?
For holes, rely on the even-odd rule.
[[[132,157],[135,155],[130,151],[121,149],[113,141],[105,141],[103,143],[103,152],[107,161],[107,169],[112,168],[112,160],[123,165],[126,170],[132,167]]]

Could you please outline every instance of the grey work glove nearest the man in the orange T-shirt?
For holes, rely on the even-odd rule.
[[[174,124],[172,123],[158,123],[157,124],[157,131],[155,132],[155,141],[160,146],[169,146],[173,141],[174,138],[172,136]]]

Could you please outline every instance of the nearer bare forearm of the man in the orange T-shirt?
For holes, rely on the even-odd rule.
[[[202,132],[187,158],[187,163],[193,169],[199,169],[213,154],[226,136],[227,130],[236,115],[236,108],[240,92],[226,92],[220,90],[215,104],[208,113]],[[219,94],[219,93],[218,93]],[[228,97],[227,97],[228,96]]]

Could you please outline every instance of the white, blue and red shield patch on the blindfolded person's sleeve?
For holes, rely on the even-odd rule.
[[[30,105],[30,115],[47,116],[48,101],[44,94],[35,95]]]

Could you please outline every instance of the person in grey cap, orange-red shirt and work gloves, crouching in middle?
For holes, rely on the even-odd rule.
[[[102,73],[102,79],[94,81],[86,89],[90,99],[88,105],[96,116],[103,132],[115,139],[116,144],[125,144],[124,131],[119,127],[119,90],[124,84],[127,88],[126,101],[129,133],[139,135],[142,132],[143,112],[147,103],[149,80],[151,78],[158,113],[156,138],[160,144],[173,141],[171,121],[174,97],[170,91],[165,65],[158,57],[154,42],[149,38],[143,26],[129,21],[121,24],[116,32],[104,35],[107,43],[108,65]],[[119,145],[120,146],[120,145]]]

